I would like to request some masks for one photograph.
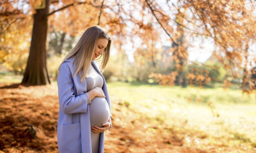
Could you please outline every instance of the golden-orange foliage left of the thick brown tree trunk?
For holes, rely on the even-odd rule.
[[[28,57],[31,17],[7,0],[0,2],[0,8],[0,62],[15,74],[21,74]]]

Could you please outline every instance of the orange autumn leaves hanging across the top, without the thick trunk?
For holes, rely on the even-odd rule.
[[[49,2],[49,0],[46,1]],[[244,91],[254,90],[255,84],[249,79],[252,75],[250,69],[255,65],[255,55],[252,50],[256,33],[254,1],[62,0],[50,2],[49,14],[45,16],[49,18],[49,31],[62,31],[72,37],[80,35],[89,26],[98,24],[106,28],[111,37],[116,40],[113,41],[113,45],[122,54],[125,53],[122,51],[123,46],[130,43],[128,45],[136,50],[136,53],[152,61],[154,66],[156,54],[159,53],[156,46],[163,45],[166,41],[172,44],[168,53],[173,55],[167,63],[175,60],[176,69],[182,70],[189,56],[188,40],[193,42],[195,37],[211,38],[215,44],[214,54],[223,64],[224,69],[231,71],[236,68],[244,69],[242,83]],[[4,4],[4,8],[11,8],[2,9],[7,10],[3,13],[4,18],[11,20],[17,18],[13,14],[25,12],[27,17],[32,17],[35,13],[35,0],[4,0],[1,4]],[[27,4],[27,7],[21,4]],[[41,43],[45,45],[46,42]],[[144,46],[147,51],[144,51]],[[136,58],[136,55],[134,56]],[[170,81],[166,84],[173,85],[177,75],[179,78],[181,76],[178,72],[170,76],[163,75],[163,79]],[[198,77],[198,84],[209,81],[209,72],[205,71],[202,74]],[[233,72],[231,74],[234,75]],[[208,79],[203,81],[203,77]],[[225,83],[230,82],[225,78]]]

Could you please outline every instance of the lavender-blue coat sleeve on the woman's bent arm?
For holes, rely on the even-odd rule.
[[[88,93],[75,96],[74,84],[67,63],[62,63],[57,77],[60,110],[64,114],[86,113],[91,98]]]

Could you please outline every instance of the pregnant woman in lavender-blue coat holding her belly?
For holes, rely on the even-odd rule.
[[[104,151],[104,131],[112,127],[111,102],[102,75],[109,60],[110,45],[105,29],[91,26],[60,64],[59,153]],[[95,59],[102,55],[99,68]]]

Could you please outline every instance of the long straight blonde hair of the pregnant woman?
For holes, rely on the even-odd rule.
[[[100,38],[108,39],[108,44],[107,47],[104,49],[103,59],[100,65],[100,71],[104,72],[104,68],[109,61],[111,39],[109,38],[109,35],[105,31],[105,29],[101,28],[98,25],[89,27],[82,34],[76,46],[68,53],[68,55],[63,59],[60,65],[66,59],[74,56],[73,64],[76,72],[73,77],[75,77],[76,74],[79,72],[79,76],[81,78],[80,81],[83,82],[85,78],[89,77],[87,75],[87,72],[93,59],[96,43]],[[58,70],[60,70],[60,66]]]

